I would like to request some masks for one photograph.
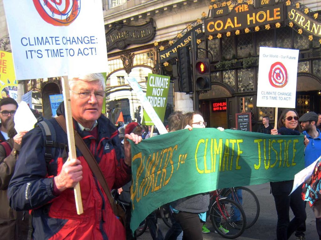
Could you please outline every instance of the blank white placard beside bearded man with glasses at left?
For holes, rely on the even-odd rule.
[[[37,119],[31,112],[26,102],[21,101],[17,112],[14,114],[14,129],[17,133],[21,131],[29,131],[34,128]]]

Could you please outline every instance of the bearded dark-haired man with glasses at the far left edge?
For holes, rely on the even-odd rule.
[[[0,100],[0,142],[9,139],[7,133],[7,121],[13,118],[18,108],[18,103],[11,97]]]

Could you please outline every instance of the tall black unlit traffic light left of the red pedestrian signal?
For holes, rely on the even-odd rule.
[[[178,69],[180,91],[183,93],[193,92],[191,61],[187,47],[178,48]]]

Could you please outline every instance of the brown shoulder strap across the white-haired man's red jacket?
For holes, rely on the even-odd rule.
[[[57,120],[57,122],[59,123],[59,125],[61,126],[62,129],[64,129],[64,131],[66,132],[66,120],[65,117],[63,115],[60,115],[58,117],[55,118]],[[112,197],[106,179],[97,163],[97,161],[95,160],[94,156],[92,155],[91,151],[88,149],[87,145],[85,144],[85,142],[82,140],[82,137],[74,130],[74,134],[75,134],[75,144],[78,147],[78,149],[81,151],[83,157],[85,158],[85,160],[87,161],[92,173],[95,175],[95,177],[97,178],[97,180],[99,181],[101,187],[104,189],[109,203],[111,205],[111,208],[113,209],[113,212],[115,213],[115,215],[117,216],[117,208],[116,208],[116,203],[114,201],[114,198]]]

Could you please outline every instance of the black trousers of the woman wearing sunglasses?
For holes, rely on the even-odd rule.
[[[307,218],[304,201],[301,198],[302,186],[299,186],[289,196],[293,180],[271,182],[270,184],[278,214],[276,237],[277,240],[287,240]],[[294,214],[294,218],[291,221],[289,216],[290,208]]]

